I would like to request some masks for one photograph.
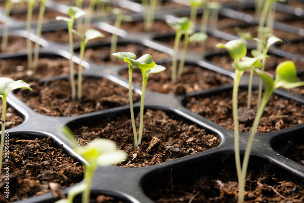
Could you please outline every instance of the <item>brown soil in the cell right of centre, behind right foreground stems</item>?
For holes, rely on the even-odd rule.
[[[253,109],[256,109],[257,92],[257,90],[254,90],[251,97]],[[239,91],[239,111],[247,107],[247,95],[247,90]],[[227,129],[234,130],[232,90],[209,97],[187,98],[185,107]],[[293,100],[287,100],[285,98],[278,97],[277,95],[272,95],[264,109],[264,114],[262,115],[256,133],[268,133],[302,124],[303,108],[304,104]],[[247,115],[245,117],[247,119],[244,119],[243,122],[240,122],[240,132],[250,133],[254,116],[255,111],[252,112],[252,114]]]

